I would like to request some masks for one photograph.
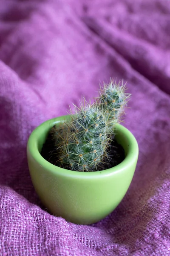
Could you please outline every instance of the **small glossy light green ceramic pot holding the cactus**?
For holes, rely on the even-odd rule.
[[[60,116],[38,126],[27,145],[28,166],[34,188],[44,206],[54,215],[77,224],[92,224],[111,213],[130,186],[138,159],[133,134],[116,125],[116,140],[125,149],[125,160],[99,172],[75,172],[46,161],[40,154],[53,125],[69,116]]]

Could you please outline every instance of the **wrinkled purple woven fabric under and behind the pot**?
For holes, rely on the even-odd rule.
[[[127,81],[139,162],[121,204],[91,226],[50,215],[28,171],[41,122]],[[0,256],[170,255],[170,1],[1,0]]]

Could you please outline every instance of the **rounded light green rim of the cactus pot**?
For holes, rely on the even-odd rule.
[[[28,143],[27,143],[27,155],[31,154],[33,159],[42,167],[46,169],[47,172],[52,172],[54,175],[60,175],[60,176],[67,176],[67,177],[73,177],[73,178],[85,178],[85,179],[91,179],[93,177],[97,178],[102,178],[104,176],[110,176],[114,175],[118,172],[122,172],[125,169],[127,169],[129,166],[133,164],[133,162],[136,162],[138,159],[138,154],[139,154],[139,148],[138,148],[138,143],[136,141],[136,138],[133,136],[133,134],[125,128],[123,125],[116,124],[115,129],[116,131],[119,131],[120,134],[124,134],[128,141],[128,151],[125,156],[125,159],[119,163],[117,166],[111,167],[106,170],[102,171],[96,171],[96,172],[77,172],[77,171],[72,171],[68,169],[61,168],[59,166],[55,166],[51,163],[49,163],[47,160],[45,160],[41,154],[40,151],[38,150],[38,141],[42,134],[44,133],[43,127],[48,126],[50,129],[53,125],[61,122],[64,119],[67,119],[69,115],[65,116],[59,116],[53,119],[49,119],[45,122],[43,122],[41,125],[37,126],[37,128],[32,131]],[[117,135],[119,136],[119,135]],[[101,175],[102,174],[102,175]]]

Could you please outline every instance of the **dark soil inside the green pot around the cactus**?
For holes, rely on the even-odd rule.
[[[57,166],[58,159],[56,157],[57,154],[54,154],[55,150],[56,150],[56,146],[54,145],[52,134],[49,133],[45,143],[42,146],[41,155],[49,163],[52,163]],[[111,142],[111,148],[109,149],[109,151],[110,151],[109,155],[111,156],[110,160],[106,158],[104,160],[104,162],[106,163],[103,164],[103,166],[101,166],[100,168],[98,168],[98,171],[106,170],[113,166],[116,166],[125,159],[125,151],[122,148],[122,146],[116,142],[116,140],[113,140]]]

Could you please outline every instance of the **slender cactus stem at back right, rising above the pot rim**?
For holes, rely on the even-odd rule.
[[[110,84],[104,84],[100,90],[100,96],[96,99],[99,108],[105,111],[105,114],[110,121],[110,128],[114,122],[118,123],[121,120],[124,107],[127,104],[127,99],[130,97],[129,93],[125,93],[125,85],[121,81],[117,84],[111,79]]]

